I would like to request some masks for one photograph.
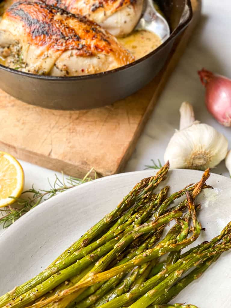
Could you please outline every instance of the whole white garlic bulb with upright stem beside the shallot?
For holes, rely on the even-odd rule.
[[[228,151],[228,140],[210,125],[195,121],[193,107],[182,103],[180,130],[174,133],[164,153],[164,161],[171,168],[213,168],[223,160]]]

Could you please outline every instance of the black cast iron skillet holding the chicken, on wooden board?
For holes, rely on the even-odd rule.
[[[157,2],[171,35],[145,57],[112,71],[77,77],[39,76],[0,65],[0,87],[23,102],[63,110],[101,107],[131,95],[160,71],[176,37],[192,19],[190,0]]]

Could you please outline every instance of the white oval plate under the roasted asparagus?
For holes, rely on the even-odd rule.
[[[108,176],[59,194],[24,215],[0,236],[0,295],[38,274],[87,229],[114,209],[142,178],[146,170]],[[201,171],[170,170],[161,184],[170,193],[201,178]],[[231,180],[211,174],[207,181],[215,189],[201,193],[199,220],[202,232],[195,245],[210,240],[231,221]],[[158,188],[159,190],[159,188]],[[201,308],[230,307],[231,254],[224,253],[215,265],[174,299]]]

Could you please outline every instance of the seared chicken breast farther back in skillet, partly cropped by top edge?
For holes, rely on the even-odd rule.
[[[121,37],[132,32],[140,19],[143,0],[44,0],[73,14],[97,22],[111,34]]]

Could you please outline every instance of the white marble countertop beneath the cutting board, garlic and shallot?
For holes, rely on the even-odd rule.
[[[202,67],[231,78],[231,2],[203,0],[202,17],[178,66],[166,85],[157,106],[140,136],[125,172],[143,170],[151,159],[163,163],[165,148],[174,129],[179,127],[179,107],[183,101],[193,104],[196,119],[222,132],[231,148],[231,128],[218,124],[205,108],[205,89],[197,71]],[[20,161],[25,172],[25,189],[47,189],[55,180],[55,172]],[[224,162],[212,172],[229,176]],[[61,176],[58,172],[56,172]],[[0,227],[0,233],[2,233]]]

